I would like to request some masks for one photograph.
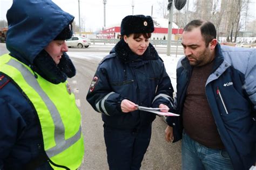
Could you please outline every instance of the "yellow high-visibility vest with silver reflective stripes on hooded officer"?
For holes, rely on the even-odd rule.
[[[53,84],[9,54],[0,56],[0,72],[23,90],[36,109],[44,151],[53,169],[77,169],[83,160],[81,116],[68,82]],[[68,89],[68,90],[67,90]]]

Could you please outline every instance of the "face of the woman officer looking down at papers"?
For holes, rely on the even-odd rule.
[[[129,37],[124,35],[124,41],[128,44],[131,51],[137,55],[143,55],[149,46],[149,38],[145,38],[143,34],[134,39],[134,34],[130,34]]]

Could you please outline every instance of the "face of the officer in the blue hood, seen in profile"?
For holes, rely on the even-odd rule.
[[[64,40],[53,40],[44,49],[55,61],[56,65],[58,65],[63,52],[68,51],[68,46],[66,46],[66,42]]]

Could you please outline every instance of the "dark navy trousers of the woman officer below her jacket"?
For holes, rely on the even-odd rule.
[[[104,124],[107,162],[110,170],[139,169],[150,143],[152,125],[121,130]]]

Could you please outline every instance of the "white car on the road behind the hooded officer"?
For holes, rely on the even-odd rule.
[[[68,47],[87,48],[91,45],[91,40],[85,37],[72,37],[66,40],[66,45]]]

